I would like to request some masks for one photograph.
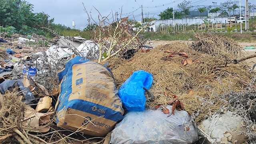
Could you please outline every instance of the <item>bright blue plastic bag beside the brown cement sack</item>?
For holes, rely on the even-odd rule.
[[[149,89],[152,83],[152,74],[144,70],[133,72],[119,89],[119,96],[123,102],[124,108],[128,111],[145,110],[146,97],[143,87]]]

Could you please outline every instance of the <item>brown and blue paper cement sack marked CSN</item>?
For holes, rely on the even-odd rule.
[[[58,76],[61,84],[55,108],[57,126],[104,136],[123,119],[113,74],[105,66],[76,56]]]

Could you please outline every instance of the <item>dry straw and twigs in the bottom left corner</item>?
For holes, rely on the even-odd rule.
[[[50,121],[39,119],[39,123],[46,122],[38,128],[45,128],[50,126],[48,132],[40,132],[38,128],[31,127],[36,122],[32,120],[34,117],[42,116],[42,113],[37,113],[35,116],[26,118],[26,111],[33,110],[28,105],[22,102],[22,93],[6,92],[0,94],[0,143],[4,144],[74,144],[74,143],[102,143],[104,138],[94,138],[85,136],[80,133],[80,130],[75,132],[58,128],[54,121],[55,116],[52,116]],[[34,113],[34,112],[32,112]],[[31,123],[30,123],[31,120]],[[28,122],[28,123],[26,123]],[[30,125],[31,124],[31,125]]]

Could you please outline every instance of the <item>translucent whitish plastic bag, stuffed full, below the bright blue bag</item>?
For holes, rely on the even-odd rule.
[[[128,112],[110,138],[112,144],[194,144],[197,140],[196,124],[186,111],[175,110],[170,116],[159,109]]]

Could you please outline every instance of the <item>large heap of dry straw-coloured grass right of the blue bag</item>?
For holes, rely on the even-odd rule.
[[[172,51],[172,54],[165,51]],[[188,58],[174,55],[176,52],[185,52]],[[219,94],[242,90],[248,86],[252,75],[243,63],[226,64],[223,58],[197,52],[184,43],[137,52],[132,59],[122,60],[122,63],[113,58],[109,63],[118,87],[136,70],[152,73],[154,83],[150,90],[156,99],[148,104],[167,104],[176,95],[185,109],[196,115],[196,121],[201,121],[223,105],[218,100]]]

